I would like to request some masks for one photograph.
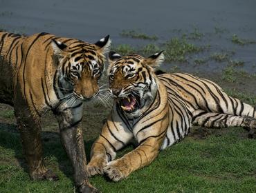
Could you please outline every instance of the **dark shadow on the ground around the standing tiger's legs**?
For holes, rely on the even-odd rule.
[[[59,134],[57,132],[41,132],[41,136],[44,147],[44,163],[48,169],[52,169],[56,172],[58,168],[58,170],[63,172],[68,179],[74,181],[73,168],[62,146]],[[94,140],[91,139],[84,143],[87,161],[89,161],[89,152],[93,141]],[[24,171],[28,173],[28,165],[22,150],[21,138],[19,136],[19,130],[17,130],[17,125],[0,123],[0,146],[15,152],[15,159],[17,159],[17,162]],[[3,156],[4,155],[2,154],[2,157]],[[0,163],[1,162],[4,163],[5,161],[0,160]],[[10,163],[10,160],[8,160],[8,162]]]

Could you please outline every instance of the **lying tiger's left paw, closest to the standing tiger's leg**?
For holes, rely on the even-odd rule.
[[[103,167],[107,164],[104,159],[92,160],[86,165],[86,171],[89,176],[95,176],[97,174],[103,175]]]

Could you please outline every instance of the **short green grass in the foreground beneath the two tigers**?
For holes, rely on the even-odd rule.
[[[123,181],[103,176],[90,181],[102,192],[255,192],[256,141],[244,137],[241,128],[210,131],[205,139],[186,137]],[[74,192],[71,165],[58,140],[44,145],[46,165],[60,176],[57,182],[30,181],[17,165],[17,159],[24,161],[17,134],[0,131],[0,141],[0,192]]]

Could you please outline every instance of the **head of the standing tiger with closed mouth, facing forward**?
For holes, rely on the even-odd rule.
[[[96,43],[75,41],[70,45],[52,40],[53,57],[58,63],[57,87],[73,92],[76,99],[87,100],[99,92],[98,80],[104,69],[104,54],[109,52],[109,35]]]

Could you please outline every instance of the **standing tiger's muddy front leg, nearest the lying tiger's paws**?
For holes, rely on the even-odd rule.
[[[54,113],[60,125],[62,145],[73,166],[75,184],[79,192],[97,192],[95,187],[89,183],[86,174],[84,136],[81,128],[82,106],[64,108]]]

